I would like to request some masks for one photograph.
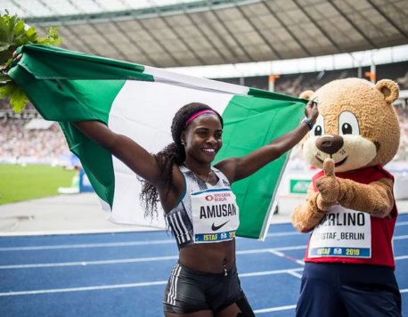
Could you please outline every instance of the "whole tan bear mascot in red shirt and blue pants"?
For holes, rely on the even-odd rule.
[[[299,232],[311,232],[297,316],[401,316],[394,178],[383,168],[399,145],[398,93],[388,79],[346,78],[300,95],[318,104],[302,150],[322,171],[291,215]]]

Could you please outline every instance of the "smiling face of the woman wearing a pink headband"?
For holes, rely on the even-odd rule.
[[[194,118],[182,134],[186,157],[201,163],[210,163],[223,146],[223,128],[220,120],[213,114]]]

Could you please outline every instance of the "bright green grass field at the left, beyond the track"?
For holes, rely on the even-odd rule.
[[[69,187],[77,171],[41,165],[0,165],[0,205],[58,194]]]

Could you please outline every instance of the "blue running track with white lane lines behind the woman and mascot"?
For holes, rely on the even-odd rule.
[[[237,240],[242,288],[257,316],[293,316],[308,234],[274,224],[264,242]],[[396,278],[408,316],[408,215],[394,234]],[[0,316],[162,316],[177,259],[167,232],[0,239]]]

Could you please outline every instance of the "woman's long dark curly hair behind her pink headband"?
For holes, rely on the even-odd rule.
[[[192,117],[192,115],[202,110],[212,110],[216,112],[216,110],[213,110],[208,105],[199,102],[192,102],[180,108],[180,110],[175,113],[175,117],[173,118],[173,123],[171,125],[171,136],[174,142],[168,144],[163,150],[160,150],[159,153],[154,154],[154,158],[158,162],[158,165],[162,171],[162,181],[166,184],[166,199],[169,192],[175,190],[175,186],[173,184],[173,165],[182,165],[185,160],[184,145],[182,145],[181,141],[181,135],[185,130],[185,123]],[[216,112],[216,116],[219,118],[221,126],[224,126],[224,121],[221,115]],[[144,205],[144,216],[151,215],[151,217],[153,217],[156,215],[156,217],[158,217],[158,190],[143,178],[139,178],[139,180],[142,182],[140,199]]]

